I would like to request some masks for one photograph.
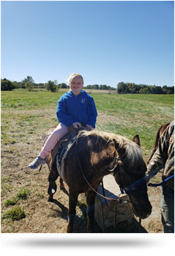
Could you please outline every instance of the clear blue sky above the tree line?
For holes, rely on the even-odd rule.
[[[174,86],[174,1],[1,1],[1,78]]]

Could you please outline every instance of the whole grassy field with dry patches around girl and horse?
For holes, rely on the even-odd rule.
[[[43,211],[46,208],[47,167],[43,168],[42,174],[31,174],[27,166],[43,146],[41,135],[49,127],[58,124],[56,105],[64,92],[51,93],[39,89],[32,92],[22,89],[1,91],[2,232],[34,232],[34,227],[37,227],[36,223],[32,224],[34,214],[37,214],[35,208]],[[174,120],[174,95],[89,92],[99,113],[96,129],[111,131],[129,139],[139,134],[146,161],[154,146],[158,127]],[[14,221],[15,214],[19,219],[22,216],[21,223]],[[45,214],[50,216],[50,213]],[[39,232],[39,229],[35,232]]]

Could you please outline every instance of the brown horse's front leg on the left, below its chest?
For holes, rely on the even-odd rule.
[[[72,190],[69,191],[69,210],[68,210],[68,227],[67,233],[72,233],[73,231],[73,221],[76,214],[76,203],[79,193]]]

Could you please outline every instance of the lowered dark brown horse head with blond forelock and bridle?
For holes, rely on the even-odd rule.
[[[147,196],[147,167],[143,161],[139,136],[134,136],[133,140],[116,136],[114,144],[118,161],[114,172],[116,183],[130,196],[134,214],[145,219],[151,214],[152,205]]]

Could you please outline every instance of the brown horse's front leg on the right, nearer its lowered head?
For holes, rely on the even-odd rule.
[[[95,212],[95,197],[96,193],[94,191],[90,191],[86,194],[86,199],[88,203],[88,233],[93,233],[93,223],[94,223],[94,212]]]

